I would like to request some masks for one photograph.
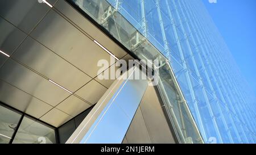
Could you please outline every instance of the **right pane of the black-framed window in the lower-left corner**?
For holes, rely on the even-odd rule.
[[[55,130],[33,119],[24,117],[14,137],[14,144],[56,143]]]

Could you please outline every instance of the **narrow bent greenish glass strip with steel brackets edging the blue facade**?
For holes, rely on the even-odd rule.
[[[181,93],[170,62],[164,56],[165,53],[160,52],[164,51],[164,48],[162,45],[155,47],[154,45],[157,43],[152,44],[152,41],[156,41],[155,36],[147,36],[148,39],[146,39],[142,35],[141,25],[138,24],[135,27],[130,20],[124,18],[115,7],[105,0],[68,0],[68,2],[80,7],[90,18],[104,27],[109,35],[112,35],[139,59],[158,60],[160,64],[158,89],[179,143],[204,143]],[[155,64],[155,66],[159,66],[159,64]]]

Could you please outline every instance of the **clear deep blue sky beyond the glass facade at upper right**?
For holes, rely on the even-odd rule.
[[[256,0],[203,0],[256,96]]]

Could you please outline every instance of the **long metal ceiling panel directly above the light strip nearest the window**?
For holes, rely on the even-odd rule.
[[[31,37],[17,49],[14,58],[72,92],[92,79]]]

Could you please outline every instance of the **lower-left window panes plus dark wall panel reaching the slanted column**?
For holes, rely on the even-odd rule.
[[[64,144],[93,107],[55,128],[0,103],[0,144]]]

